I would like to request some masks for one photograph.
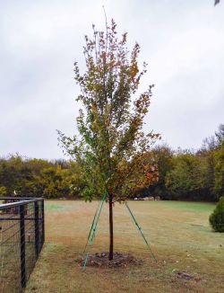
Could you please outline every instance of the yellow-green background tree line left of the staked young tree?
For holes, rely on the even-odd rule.
[[[77,198],[81,185],[74,162],[29,159],[18,154],[0,159],[0,196]]]

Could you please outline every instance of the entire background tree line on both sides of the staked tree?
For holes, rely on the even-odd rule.
[[[160,145],[151,155],[158,165],[158,181],[136,191],[133,198],[216,201],[224,194],[223,124],[196,151]],[[30,159],[18,154],[0,158],[0,196],[80,199],[86,191],[83,177],[82,167],[73,161]]]

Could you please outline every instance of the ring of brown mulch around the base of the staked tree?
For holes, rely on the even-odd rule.
[[[79,260],[81,266],[83,266],[84,261],[85,259]],[[89,255],[87,262],[87,266],[97,268],[117,268],[141,264],[142,260],[136,259],[129,253],[114,253],[114,259],[112,261],[108,261],[108,253],[94,253]]]

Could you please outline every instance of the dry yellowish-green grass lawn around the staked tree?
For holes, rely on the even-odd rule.
[[[224,234],[214,233],[208,218],[214,205],[177,201],[130,201],[129,206],[151,243],[151,259],[125,208],[114,209],[115,251],[133,253],[142,266],[119,269],[87,267],[76,261],[98,202],[47,200],[46,244],[26,292],[224,292]],[[93,247],[108,251],[108,204]],[[178,275],[185,272],[191,280]]]

